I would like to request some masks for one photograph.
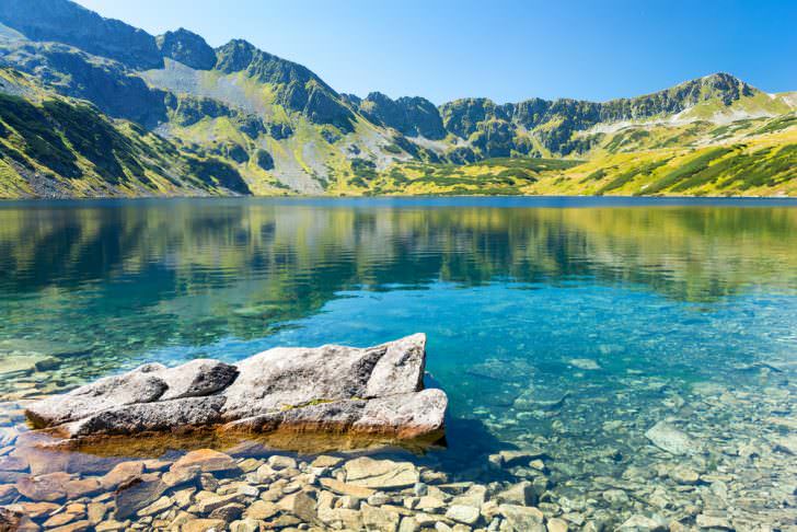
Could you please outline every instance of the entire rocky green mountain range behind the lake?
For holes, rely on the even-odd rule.
[[[69,0],[0,0],[0,197],[797,196],[797,93],[714,73],[632,99],[336,92],[308,68]]]

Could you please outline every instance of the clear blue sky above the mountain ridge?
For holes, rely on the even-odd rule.
[[[797,91],[794,0],[78,0],[152,34],[245,38],[338,92],[604,101],[712,72]]]

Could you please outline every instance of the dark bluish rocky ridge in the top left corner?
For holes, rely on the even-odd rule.
[[[0,22],[30,39],[69,44],[131,68],[163,66],[152,35],[68,0],[3,0]]]

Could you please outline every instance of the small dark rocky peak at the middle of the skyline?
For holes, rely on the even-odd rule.
[[[446,137],[440,113],[435,104],[424,97],[391,100],[381,92],[372,92],[365,100],[356,99],[353,103],[369,120],[392,127],[403,135],[435,140]]]

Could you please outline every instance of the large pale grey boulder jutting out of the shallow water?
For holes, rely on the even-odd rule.
[[[448,406],[442,391],[423,388],[425,346],[416,334],[368,348],[275,348],[235,366],[150,363],[33,403],[26,415],[67,438],[207,426],[416,438],[441,430]]]

